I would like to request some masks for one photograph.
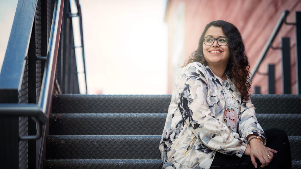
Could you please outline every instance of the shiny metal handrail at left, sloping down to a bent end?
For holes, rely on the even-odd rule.
[[[42,80],[41,94],[38,104],[0,104],[0,115],[3,116],[28,116],[37,123],[37,134],[19,136],[20,140],[35,140],[42,136],[42,124],[46,124],[49,118],[51,96],[53,93],[54,76],[57,62],[57,52],[61,34],[64,0],[56,0],[51,24],[47,59]],[[30,36],[29,36],[30,37]]]

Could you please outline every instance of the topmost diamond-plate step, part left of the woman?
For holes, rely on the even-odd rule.
[[[52,113],[166,113],[171,95],[84,95],[52,97]]]

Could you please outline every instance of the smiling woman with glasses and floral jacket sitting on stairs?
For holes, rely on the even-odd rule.
[[[163,168],[291,168],[285,132],[264,132],[257,122],[249,67],[234,25],[206,25],[174,86],[160,142]]]

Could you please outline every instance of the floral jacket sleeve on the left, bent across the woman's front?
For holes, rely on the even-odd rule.
[[[207,104],[205,71],[203,67],[189,65],[182,69],[174,89],[179,93],[178,109],[201,143],[223,154],[241,157],[247,142],[236,132],[231,132],[222,121],[212,117]]]

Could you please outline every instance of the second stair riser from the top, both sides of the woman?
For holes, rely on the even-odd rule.
[[[301,135],[301,114],[257,114],[262,128]],[[50,135],[161,135],[166,114],[52,114]]]

